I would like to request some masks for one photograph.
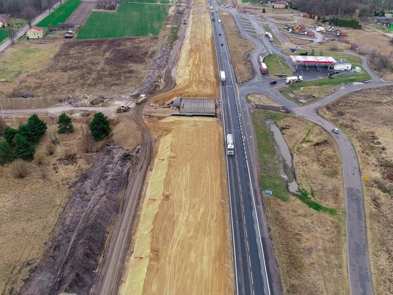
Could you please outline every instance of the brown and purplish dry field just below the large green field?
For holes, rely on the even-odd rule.
[[[4,95],[27,92],[62,98],[135,91],[147,75],[158,42],[158,37],[65,42],[42,70],[20,77]]]

